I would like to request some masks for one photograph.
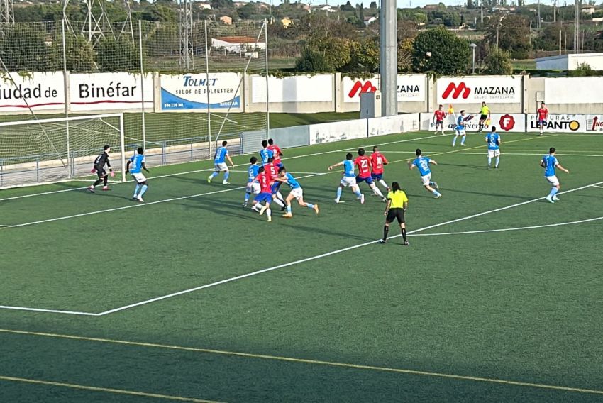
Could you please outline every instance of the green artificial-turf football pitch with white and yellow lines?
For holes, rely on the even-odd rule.
[[[498,170],[482,135],[451,140],[283,150],[321,211],[272,223],[241,206],[249,155],[230,185],[210,161],[150,167],[145,204],[132,182],[0,191],[1,401],[602,402],[603,136],[504,134]],[[333,202],[328,165],[376,144],[407,247],[395,224],[377,243],[366,184],[364,205]],[[570,170],[555,204],[551,146]]]

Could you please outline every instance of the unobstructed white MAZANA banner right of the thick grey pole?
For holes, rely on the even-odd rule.
[[[519,104],[521,77],[441,77],[438,104]]]

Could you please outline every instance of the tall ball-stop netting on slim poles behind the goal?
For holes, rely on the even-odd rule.
[[[126,151],[143,145],[150,165],[211,158],[222,140],[237,153],[245,133],[267,133],[267,102],[243,105],[247,74],[267,77],[265,21],[12,23],[0,60],[0,102],[19,104],[0,121],[123,112]],[[50,101],[23,94],[42,73]]]

